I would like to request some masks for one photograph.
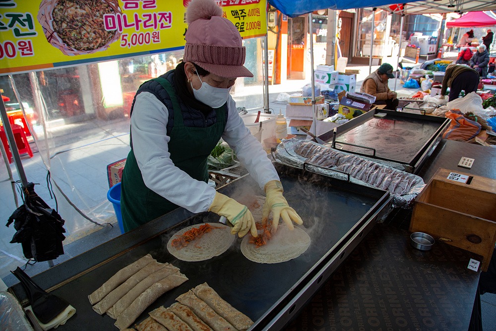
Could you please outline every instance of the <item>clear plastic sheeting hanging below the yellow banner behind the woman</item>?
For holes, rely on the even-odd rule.
[[[262,41],[263,38],[244,41],[245,66],[254,77],[238,78],[231,90],[237,106],[248,111],[263,112]],[[8,114],[20,112],[21,116],[13,122],[20,126],[27,124],[24,131],[28,140],[35,142],[30,144],[33,157],[21,155],[27,180],[40,184],[35,186],[36,193],[51,207],[58,207],[67,230],[64,245],[82,233],[116,222],[113,206],[107,199],[107,166],[126,158],[130,150],[129,111],[134,94],[143,82],[174,69],[182,57],[180,50],[0,76],[2,94],[11,99],[5,103]],[[22,204],[19,192],[14,194],[8,169],[14,180],[18,180],[14,163],[9,165],[1,157],[0,219],[3,222],[16,208],[14,199]],[[57,202],[48,189],[48,171]],[[1,269],[7,270],[4,267],[12,261],[24,264],[21,245],[9,243],[15,233],[13,226],[0,226],[0,229]]]

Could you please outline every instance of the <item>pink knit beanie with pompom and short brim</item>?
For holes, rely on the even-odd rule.
[[[183,61],[225,78],[253,77],[243,66],[246,49],[241,35],[230,20],[222,17],[222,12],[214,0],[189,2]]]

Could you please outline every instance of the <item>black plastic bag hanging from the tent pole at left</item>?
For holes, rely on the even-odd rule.
[[[65,221],[55,209],[34,192],[34,183],[28,183],[24,191],[24,204],[8,218],[17,232],[10,243],[20,243],[26,259],[36,262],[55,260],[63,253],[62,241]]]

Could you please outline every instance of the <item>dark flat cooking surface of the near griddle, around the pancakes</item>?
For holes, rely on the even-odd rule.
[[[92,310],[87,297],[118,270],[148,253],[159,262],[168,262],[179,267],[189,280],[157,299],[135,321],[136,324],[144,320],[151,310],[160,306],[168,307],[180,294],[205,281],[222,298],[253,321],[257,321],[266,316],[271,307],[284,301],[294,288],[304,283],[311,276],[309,273],[318,269],[323,260],[332,255],[335,247],[350,236],[354,228],[365,222],[382,205],[384,197],[387,197],[384,191],[369,190],[353,183],[344,184],[349,186],[349,190],[331,186],[329,178],[308,172],[304,177],[294,176],[281,173],[279,167],[279,174],[285,188],[285,197],[303,218],[304,228],[311,238],[310,248],[302,256],[285,263],[257,264],[243,256],[240,250],[241,239],[237,239],[227,252],[210,260],[177,260],[166,248],[170,237],[188,225],[215,222],[219,217],[213,213],[202,213],[56,288],[52,293],[66,299],[76,308],[76,315],[59,329],[117,330],[113,319],[106,315],[100,316]],[[248,188],[244,185],[245,182],[248,182]],[[249,177],[243,177],[226,188],[228,187],[232,191],[230,196],[256,190],[258,191],[255,193],[261,194]]]

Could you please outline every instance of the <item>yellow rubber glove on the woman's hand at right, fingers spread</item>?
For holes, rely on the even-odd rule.
[[[296,224],[303,224],[302,218],[298,215],[295,209],[291,208],[286,201],[286,198],[282,196],[283,188],[282,183],[279,181],[270,181],[265,184],[265,204],[263,205],[262,211],[262,224],[266,224],[269,218],[269,213],[272,211],[272,227],[274,231],[277,230],[277,225],[279,224],[279,217],[283,219],[290,230],[295,227],[293,222]]]

